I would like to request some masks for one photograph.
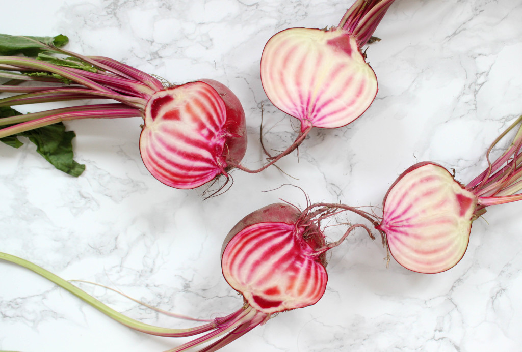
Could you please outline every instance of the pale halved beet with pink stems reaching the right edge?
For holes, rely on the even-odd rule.
[[[518,127],[504,152],[490,153]],[[393,257],[407,269],[425,273],[448,270],[464,256],[471,224],[486,207],[522,199],[522,116],[492,143],[488,167],[466,186],[434,162],[413,165],[394,182],[384,198],[383,221]]]

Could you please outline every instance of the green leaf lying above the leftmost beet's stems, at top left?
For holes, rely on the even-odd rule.
[[[35,57],[39,53],[49,51],[51,47],[62,47],[69,42],[67,36],[22,36],[0,34],[0,55],[23,54]]]

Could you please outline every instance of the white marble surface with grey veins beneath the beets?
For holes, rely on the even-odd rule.
[[[268,102],[259,60],[290,27],[339,22],[348,2],[307,0],[35,0],[6,2],[0,33],[69,36],[68,48],[109,56],[174,83],[211,78],[247,117],[245,165],[260,165],[260,106],[274,149],[296,125]],[[43,7],[42,7],[43,6]],[[314,130],[279,166],[234,172],[225,194],[164,186],[138,150],[140,119],[68,123],[77,134],[75,179],[26,144],[0,145],[1,251],[65,279],[118,288],[159,308],[209,318],[242,299],[220,272],[221,242],[248,212],[283,198],[378,206],[410,165],[439,162],[468,182],[494,138],[522,114],[522,1],[397,0],[367,49],[379,92],[357,121]],[[20,108],[33,111],[33,107]],[[224,351],[519,351],[522,349],[522,204],[489,208],[473,223],[458,265],[434,275],[386,268],[380,241],[350,236],[329,257],[328,288],[311,307],[282,313]],[[329,228],[335,240],[342,228]],[[0,263],[0,350],[163,351],[188,339],[117,324],[25,269]],[[141,321],[180,327],[101,287],[80,284]]]

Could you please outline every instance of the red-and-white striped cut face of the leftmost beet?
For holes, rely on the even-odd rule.
[[[140,153],[151,174],[176,188],[193,188],[224,173],[226,107],[204,82],[156,93],[145,108]]]

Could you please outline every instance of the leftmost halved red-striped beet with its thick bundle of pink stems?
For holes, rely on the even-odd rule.
[[[59,39],[63,39],[62,36]],[[62,45],[66,43],[60,42]],[[44,79],[51,84],[22,86],[10,81],[2,85],[1,91],[15,95],[1,98],[0,107],[88,98],[113,99],[118,103],[79,105],[23,116],[13,110],[10,116],[0,119],[0,140],[3,137],[11,140],[20,133],[61,121],[139,116],[144,118],[139,147],[145,166],[158,180],[177,188],[195,188],[220,175],[228,181],[228,171],[239,165],[245,155],[243,107],[238,97],[217,81],[200,79],[182,85],[163,84],[122,62],[82,56],[34,37],[0,35],[0,54],[4,45],[9,49],[13,43],[16,44],[13,49],[16,54],[24,54],[23,48],[29,46],[54,55],[45,59],[50,62],[0,56],[0,65],[4,69],[0,71],[0,77],[29,82]],[[64,56],[75,59],[64,59]],[[49,75],[43,78],[28,76],[28,70]],[[122,109],[123,105],[127,108]],[[61,143],[58,137],[55,139],[45,143]],[[72,153],[70,156],[65,154],[62,153],[61,158],[72,158]],[[64,171],[67,172],[67,168]],[[74,172],[75,175],[79,173]]]

